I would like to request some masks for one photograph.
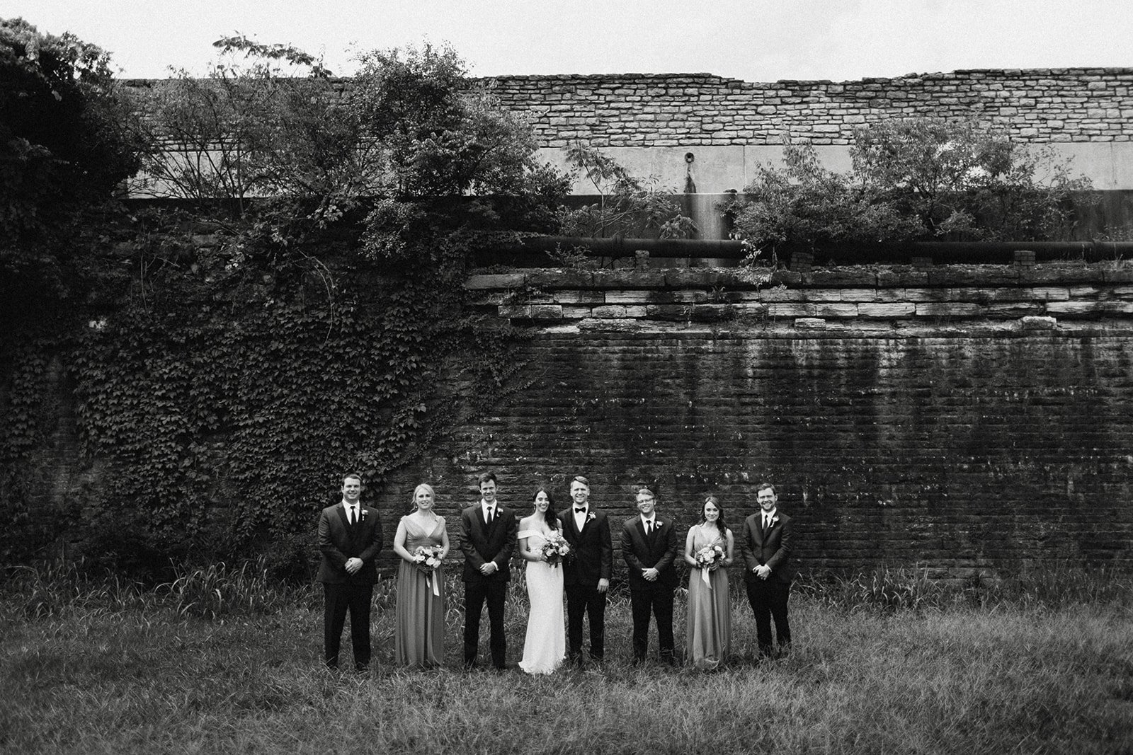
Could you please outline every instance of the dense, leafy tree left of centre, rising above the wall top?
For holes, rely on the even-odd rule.
[[[500,233],[555,229],[568,177],[538,162],[530,123],[469,79],[454,50],[426,43],[360,60],[350,106],[385,177],[364,257],[459,261]]]

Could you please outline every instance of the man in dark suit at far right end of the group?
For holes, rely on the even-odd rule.
[[[786,618],[786,601],[791,594],[791,517],[778,511],[775,486],[763,482],[756,488],[759,512],[743,523],[743,576],[748,602],[756,615],[756,637],[759,657],[772,654],[772,619],[781,652],[791,647],[791,625]]]

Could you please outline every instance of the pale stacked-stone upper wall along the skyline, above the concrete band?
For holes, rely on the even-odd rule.
[[[978,118],[1016,141],[1128,141],[1133,69],[960,70],[857,81],[753,83],[708,74],[501,76],[510,109],[544,146],[849,144],[888,118]]]

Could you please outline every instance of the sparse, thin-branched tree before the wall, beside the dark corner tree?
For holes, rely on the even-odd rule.
[[[214,46],[206,78],[178,70],[148,93],[154,149],[139,189],[232,199],[241,214],[249,197],[282,198],[315,225],[378,190],[378,152],[321,60],[242,35]]]

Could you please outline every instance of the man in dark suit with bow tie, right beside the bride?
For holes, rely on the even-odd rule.
[[[570,483],[573,505],[559,513],[563,537],[574,554],[563,565],[563,591],[566,593],[566,657],[582,662],[582,618],[590,616],[590,658],[602,661],[606,654],[606,590],[614,567],[614,543],[604,512],[590,506],[590,483],[576,477]]]

